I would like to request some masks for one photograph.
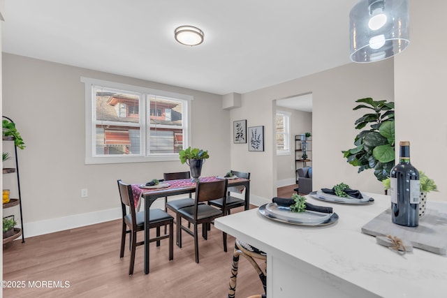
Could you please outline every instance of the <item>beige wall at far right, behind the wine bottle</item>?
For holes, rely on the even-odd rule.
[[[396,142],[409,140],[411,163],[437,183],[439,192],[430,193],[427,199],[444,201],[446,11],[446,1],[410,1],[411,42],[395,57]]]

